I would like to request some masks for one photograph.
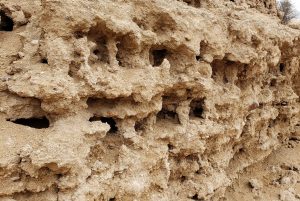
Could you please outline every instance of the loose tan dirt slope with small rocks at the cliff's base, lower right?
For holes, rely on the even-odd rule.
[[[228,201],[300,200],[300,138],[290,138],[262,162],[246,168],[227,188]],[[253,186],[253,182],[260,184]]]

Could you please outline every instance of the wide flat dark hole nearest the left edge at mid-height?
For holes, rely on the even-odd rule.
[[[50,122],[46,117],[42,118],[29,118],[29,119],[16,119],[16,120],[10,120],[7,121],[13,122],[15,124],[23,125],[23,126],[29,126],[31,128],[36,129],[42,129],[42,128],[49,128]]]

